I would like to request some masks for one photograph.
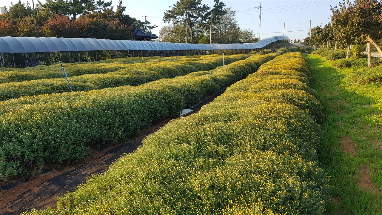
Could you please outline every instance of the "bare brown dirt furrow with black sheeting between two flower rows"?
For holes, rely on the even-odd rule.
[[[193,109],[190,114],[198,112],[203,105],[213,101],[224,90],[222,89],[190,107],[189,109]],[[157,131],[168,121],[175,118],[165,119],[123,143],[89,151],[89,158],[83,165],[65,168],[48,166],[35,179],[24,182],[13,181],[2,186],[0,189],[0,214],[16,215],[26,210],[30,211],[32,208],[37,210],[45,209],[48,206],[54,208],[57,196],[65,195],[66,192],[73,192],[78,184],[83,183],[91,174],[106,171],[110,164],[123,153],[131,153],[136,150],[141,145],[144,137]]]

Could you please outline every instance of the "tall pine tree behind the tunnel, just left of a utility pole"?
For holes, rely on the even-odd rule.
[[[191,43],[194,43],[193,30],[196,24],[206,22],[207,11],[210,9],[207,5],[202,5],[202,0],[178,0],[170,10],[165,12],[163,21],[185,26],[186,43],[188,42],[188,28],[191,31]]]

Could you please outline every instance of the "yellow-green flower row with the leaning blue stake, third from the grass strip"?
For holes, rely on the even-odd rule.
[[[230,64],[237,60],[244,60],[249,56],[248,54],[228,55],[224,60],[225,64]],[[74,91],[87,91],[116,86],[138,86],[161,78],[174,78],[190,72],[208,71],[223,65],[222,56],[192,59],[197,59],[197,61],[182,59],[175,62],[161,61],[133,64],[115,72],[87,74],[69,77],[68,79]],[[163,58],[155,60],[163,60]],[[69,91],[69,85],[63,77],[2,83],[0,84],[0,101],[21,96]]]

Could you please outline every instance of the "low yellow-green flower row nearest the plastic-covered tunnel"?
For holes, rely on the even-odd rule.
[[[160,60],[176,61],[176,60],[199,60],[200,56],[192,57],[131,57],[101,60],[99,62],[77,62],[73,64],[63,64],[68,77],[84,75],[84,74],[96,74],[96,73],[108,73],[115,72],[122,68],[127,68],[131,64],[138,63],[155,63]],[[15,69],[15,68],[13,68]],[[5,71],[0,73],[0,83],[7,82],[21,82],[30,80],[39,80],[45,78],[63,78],[63,73],[60,64],[54,64],[50,66],[36,66],[27,67],[23,69],[17,69],[13,71]]]

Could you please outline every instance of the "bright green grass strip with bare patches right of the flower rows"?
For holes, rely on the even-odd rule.
[[[329,214],[381,214],[382,211],[382,86],[359,85],[349,74],[353,68],[336,69],[319,55],[306,55],[326,119],[320,146],[320,163],[332,177],[333,202]],[[348,138],[348,149],[340,139]],[[359,186],[361,165],[371,185]],[[364,185],[364,184],[361,184]]]

